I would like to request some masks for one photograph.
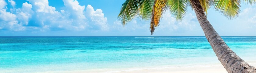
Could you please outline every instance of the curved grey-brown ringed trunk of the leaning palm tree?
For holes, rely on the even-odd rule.
[[[256,68],[247,64],[243,59],[237,56],[213,29],[204,14],[199,0],[190,0],[190,3],[196,12],[197,19],[208,42],[224,68],[226,68],[229,73],[256,73]]]

